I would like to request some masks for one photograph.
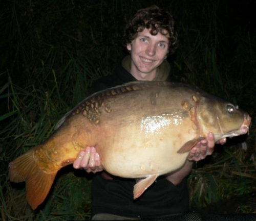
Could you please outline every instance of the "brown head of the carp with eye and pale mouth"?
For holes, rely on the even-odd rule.
[[[212,132],[215,141],[248,133],[251,121],[237,105],[208,94],[200,97],[197,119],[204,136]]]

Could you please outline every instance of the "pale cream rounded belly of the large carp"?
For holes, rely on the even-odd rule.
[[[162,125],[148,131],[143,125],[126,122],[108,135],[107,142],[98,143],[101,164],[110,174],[124,178],[141,178],[153,174],[166,174],[185,163],[188,152],[177,153],[181,146],[196,136],[191,121],[182,125]],[[101,126],[101,128],[103,125]],[[115,134],[115,135],[114,135]]]

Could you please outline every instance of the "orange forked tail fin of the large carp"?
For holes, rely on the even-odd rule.
[[[33,209],[40,205],[50,191],[57,171],[42,171],[33,158],[34,150],[30,150],[9,164],[9,177],[12,182],[26,181],[27,200]]]

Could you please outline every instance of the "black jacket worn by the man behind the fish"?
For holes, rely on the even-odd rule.
[[[114,75],[97,80],[90,93],[132,81],[136,79],[131,73],[118,66]],[[163,176],[159,177],[136,200],[133,199],[135,184],[134,179],[105,180],[96,174],[92,182],[92,216],[109,213],[127,217],[159,217],[187,212],[189,209],[186,179],[175,186]]]

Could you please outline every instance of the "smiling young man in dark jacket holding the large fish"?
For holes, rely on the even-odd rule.
[[[96,81],[91,93],[136,80],[170,80],[170,65],[165,59],[178,46],[172,15],[156,6],[141,9],[127,24],[124,39],[130,55],[122,60],[115,75]],[[190,150],[181,169],[159,177],[136,200],[133,199],[134,179],[114,177],[104,171],[96,174],[92,182],[92,219],[139,219],[187,212],[186,177],[193,162],[212,154],[214,145],[214,135],[209,133],[207,140]],[[99,155],[93,147],[80,152],[73,165],[88,172],[102,170]]]

